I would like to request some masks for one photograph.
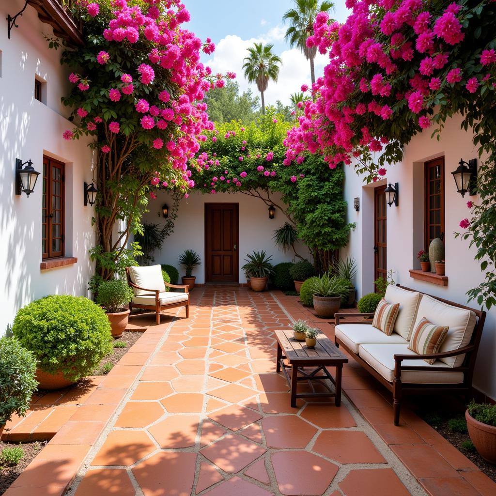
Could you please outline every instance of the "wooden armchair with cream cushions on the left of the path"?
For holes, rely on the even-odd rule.
[[[162,310],[186,307],[186,318],[189,317],[189,286],[165,282],[160,265],[126,267],[125,272],[127,284],[134,292],[129,310],[155,310],[157,325],[160,324]],[[184,289],[184,293],[172,293],[166,291],[166,287]]]

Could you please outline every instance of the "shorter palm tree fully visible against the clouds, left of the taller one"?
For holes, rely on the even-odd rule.
[[[267,89],[269,81],[277,81],[282,60],[272,53],[274,45],[255,43],[248,48],[248,57],[245,57],[243,71],[249,83],[256,83],[261,94],[262,114],[265,114],[265,100],[263,92]]]

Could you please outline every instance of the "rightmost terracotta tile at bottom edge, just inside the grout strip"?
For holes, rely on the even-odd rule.
[[[398,476],[390,468],[352,470],[339,483],[346,496],[410,496]]]

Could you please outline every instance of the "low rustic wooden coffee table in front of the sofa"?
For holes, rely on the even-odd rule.
[[[348,358],[324,334],[318,334],[315,348],[307,348],[304,341],[297,341],[292,330],[275,331],[277,339],[277,372],[286,376],[291,386],[291,406],[296,407],[297,398],[332,397],[334,404],[341,405],[341,372],[343,364],[348,363]],[[285,363],[286,360],[286,363]],[[309,370],[303,369],[310,368]],[[336,378],[327,371],[326,367],[336,367]],[[291,369],[291,375],[288,373]],[[298,376],[298,372],[301,373]],[[317,375],[319,372],[321,374]],[[334,391],[326,382],[327,379],[334,384]],[[298,393],[298,381],[307,380],[312,392]],[[321,381],[328,391],[317,392],[313,387],[314,381]]]

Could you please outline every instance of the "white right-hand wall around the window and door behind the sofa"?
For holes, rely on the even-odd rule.
[[[404,147],[401,164],[387,168],[387,179],[366,185],[353,166],[346,169],[345,199],[348,218],[356,221],[350,243],[341,255],[352,255],[357,261],[357,298],[373,291],[374,188],[387,183],[399,183],[399,206],[387,206],[387,268],[394,271],[396,283],[461,304],[467,304],[466,292],[482,280],[479,263],[474,260],[475,249],[469,241],[454,239],[461,231],[461,219],[470,218],[467,201],[477,203],[477,196],[457,193],[451,176],[460,158],[468,162],[477,158],[470,132],[460,130],[461,117],[447,122],[440,140],[431,139],[432,130],[415,136]],[[424,247],[424,163],[444,156],[445,185],[445,264],[448,285],[437,286],[410,277],[409,269],[420,269],[417,253]],[[480,163],[480,162],[478,162]],[[353,207],[353,198],[360,197],[360,211]],[[472,301],[469,306],[477,307]],[[474,386],[487,396],[496,398],[496,309],[488,312],[477,357]]]

